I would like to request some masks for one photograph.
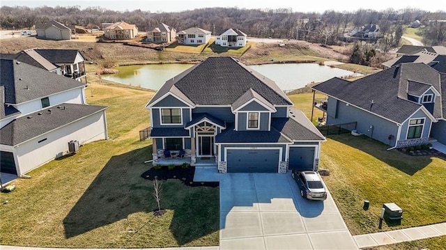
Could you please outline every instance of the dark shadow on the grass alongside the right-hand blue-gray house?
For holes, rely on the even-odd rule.
[[[367,153],[408,175],[414,175],[432,162],[432,156],[410,156],[398,150],[387,150],[390,146],[364,135],[339,134],[327,137]]]

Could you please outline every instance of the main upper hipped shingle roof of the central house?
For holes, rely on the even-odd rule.
[[[231,105],[249,88],[273,105],[292,105],[274,81],[231,57],[209,57],[169,79],[148,104],[175,86],[193,104]]]

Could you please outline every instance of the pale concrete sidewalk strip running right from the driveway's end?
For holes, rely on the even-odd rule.
[[[414,228],[403,228],[394,231],[369,233],[367,235],[353,235],[357,247],[376,247],[412,240],[422,240],[430,237],[446,235],[446,222],[429,226],[418,226]]]

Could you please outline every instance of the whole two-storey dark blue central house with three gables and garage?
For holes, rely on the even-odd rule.
[[[151,111],[153,164],[165,150],[220,173],[318,169],[324,136],[275,84],[230,57],[210,57],[166,81]],[[176,159],[174,159],[176,160]]]

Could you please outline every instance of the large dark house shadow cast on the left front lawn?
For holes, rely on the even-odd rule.
[[[134,223],[139,225],[139,230],[147,226],[146,220],[150,222],[151,212],[157,209],[153,182],[141,178],[141,173],[151,168],[151,164],[144,164],[145,160],[151,159],[151,152],[152,146],[148,146],[109,159],[63,219],[67,239],[121,220],[130,221],[130,217],[141,212],[147,215]],[[218,214],[218,203],[208,204],[211,198],[218,199],[215,187],[188,187],[180,180],[162,182],[162,208],[174,213],[171,224],[167,226],[179,245],[218,231],[218,215],[215,218],[211,216]],[[123,227],[122,231],[128,230],[121,222],[114,226]],[[132,237],[150,241],[151,236]]]

